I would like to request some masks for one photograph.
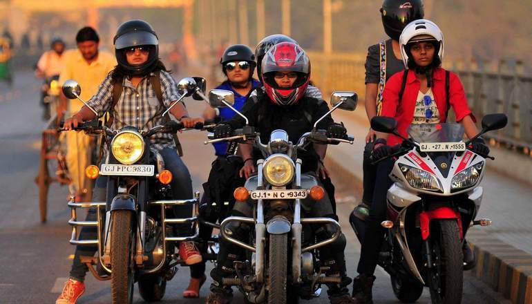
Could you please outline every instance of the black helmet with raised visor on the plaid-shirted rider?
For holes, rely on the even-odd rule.
[[[146,21],[135,19],[122,23],[116,31],[113,42],[117,63],[126,73],[134,76],[146,75],[157,65],[159,39],[155,30]],[[149,48],[148,60],[144,64],[128,64],[126,50],[139,46]]]

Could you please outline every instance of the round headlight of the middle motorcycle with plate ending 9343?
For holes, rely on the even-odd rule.
[[[294,178],[295,172],[294,162],[286,155],[272,155],[264,162],[264,177],[274,186],[288,184]]]

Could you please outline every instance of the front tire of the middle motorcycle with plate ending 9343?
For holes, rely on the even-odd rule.
[[[269,292],[268,304],[286,302],[288,240],[287,234],[269,235]]]

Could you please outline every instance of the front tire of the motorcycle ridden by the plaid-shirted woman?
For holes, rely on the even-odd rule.
[[[111,299],[113,304],[133,303],[133,212],[116,210],[111,225]]]

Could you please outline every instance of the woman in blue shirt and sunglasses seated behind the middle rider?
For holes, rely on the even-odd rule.
[[[227,76],[227,80],[222,82],[220,88],[222,90],[231,91],[234,93],[235,103],[234,108],[240,110],[249,93],[260,86],[260,82],[253,78],[253,73],[256,68],[255,55],[251,49],[243,44],[235,44],[229,46],[225,50],[220,59],[222,64],[222,71]],[[211,108],[207,106],[203,112],[203,117],[206,120],[213,120],[219,117],[222,121],[230,120],[235,115],[230,108]],[[244,161],[238,154],[238,151],[230,149],[228,152],[227,142],[217,142],[213,144],[216,160],[212,163],[209,178],[203,184],[204,193],[201,200],[202,217],[210,222],[216,220],[223,220],[226,217],[227,211],[233,208],[234,198],[232,197],[233,189],[242,185],[245,179],[238,176],[238,171],[243,166]],[[216,204],[213,204],[216,202]],[[226,203],[227,202],[227,203]],[[211,237],[212,227],[201,226],[200,238],[205,240],[202,244],[198,244],[200,251],[207,250],[207,242]],[[190,267],[191,279],[189,287],[183,292],[185,298],[198,298],[200,296],[200,287],[205,282],[205,260],[201,263],[191,265]]]

